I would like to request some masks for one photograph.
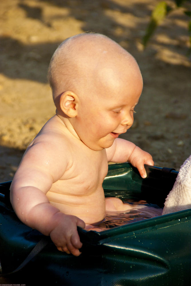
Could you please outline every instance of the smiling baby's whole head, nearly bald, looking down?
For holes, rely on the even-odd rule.
[[[69,120],[80,139],[95,150],[113,144],[113,140],[98,144],[100,140],[95,138],[98,129],[103,125],[107,129],[107,120],[113,120],[106,118],[106,109],[108,114],[111,111],[110,117],[112,112],[123,115],[124,107],[132,110],[143,86],[141,72],[133,56],[115,41],[94,33],[79,34],[62,42],[51,59],[48,79],[57,115]],[[108,131],[123,133],[132,123],[131,116],[125,127],[121,123],[120,127],[115,126],[116,122]],[[89,138],[89,141],[97,142],[95,146],[86,142],[82,134],[84,129],[88,131],[89,126],[91,131],[97,129],[97,133],[90,132],[92,136],[90,134]]]

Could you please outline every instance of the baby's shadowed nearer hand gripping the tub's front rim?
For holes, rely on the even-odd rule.
[[[50,232],[53,243],[58,250],[79,256],[81,254],[79,248],[82,247],[82,243],[80,242],[77,226],[85,228],[84,221],[73,215],[65,215],[62,212],[57,212],[54,216],[55,227]]]

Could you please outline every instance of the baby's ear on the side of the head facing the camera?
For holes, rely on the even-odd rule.
[[[77,115],[78,96],[72,91],[65,91],[60,96],[60,108],[68,117]]]

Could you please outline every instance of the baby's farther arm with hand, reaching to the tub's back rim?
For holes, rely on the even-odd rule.
[[[142,178],[146,178],[144,164],[154,165],[152,156],[127,140],[116,138],[113,145],[106,149],[109,162],[130,162]]]

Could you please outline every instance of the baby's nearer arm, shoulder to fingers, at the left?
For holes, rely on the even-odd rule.
[[[54,151],[53,151],[54,150]],[[11,184],[10,199],[19,219],[50,238],[60,251],[80,255],[82,247],[77,226],[85,223],[72,215],[65,215],[52,206],[46,193],[67,168],[50,142],[32,145],[27,149]],[[58,160],[60,159],[60,160]]]

